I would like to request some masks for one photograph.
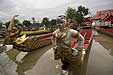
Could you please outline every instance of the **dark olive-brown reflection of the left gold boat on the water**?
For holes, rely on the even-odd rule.
[[[43,55],[48,49],[52,46],[47,46],[46,48],[41,48],[40,50],[29,52],[23,59],[22,63],[19,63],[17,66],[18,75],[24,75],[24,72],[32,69],[37,61],[39,60],[40,56]]]

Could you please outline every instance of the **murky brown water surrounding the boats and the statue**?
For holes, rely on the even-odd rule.
[[[82,69],[73,75],[113,75],[113,38],[94,34]],[[4,75],[63,75],[60,60],[54,60],[52,45],[29,53],[11,45],[0,47],[0,66]]]

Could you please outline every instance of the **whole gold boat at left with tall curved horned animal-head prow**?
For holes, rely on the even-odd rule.
[[[4,45],[13,45],[13,47],[19,51],[32,51],[34,49],[51,44],[51,31],[47,32],[44,30],[43,34],[41,31],[38,32],[38,34],[35,33],[35,36],[26,36],[26,34],[21,34],[21,30],[18,31],[18,29],[16,29],[16,27],[14,26],[14,18],[17,16],[18,15],[15,15],[11,19],[8,30],[6,32]],[[16,30],[13,31],[13,28],[15,28]]]

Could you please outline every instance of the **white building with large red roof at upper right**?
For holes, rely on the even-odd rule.
[[[95,24],[96,26],[110,25],[111,21],[104,21],[104,19],[110,15],[113,16],[113,9],[97,11],[96,15],[91,17],[90,20],[92,20],[93,25]]]

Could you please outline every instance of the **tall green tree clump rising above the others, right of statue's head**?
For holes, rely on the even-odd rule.
[[[76,20],[77,23],[81,24],[84,21],[84,16],[89,14],[89,9],[83,6],[78,6],[78,10],[74,8],[68,8],[66,15],[68,18]]]

